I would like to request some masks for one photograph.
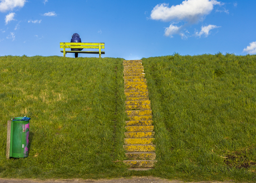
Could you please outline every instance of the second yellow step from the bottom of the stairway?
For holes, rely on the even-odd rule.
[[[155,152],[126,152],[125,156],[129,160],[155,160]]]

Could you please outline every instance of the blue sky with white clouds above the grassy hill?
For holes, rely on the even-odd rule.
[[[60,42],[73,33],[82,42],[104,42],[102,57],[126,60],[175,52],[252,55],[255,9],[255,0],[0,0],[0,56],[63,56]]]

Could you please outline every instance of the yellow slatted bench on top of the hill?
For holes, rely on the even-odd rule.
[[[101,49],[105,48],[105,43],[60,43],[60,47],[63,48],[61,52],[63,53],[63,57],[66,56],[66,53],[93,53],[93,54],[99,54],[101,57],[101,54],[105,54],[105,51],[101,51]],[[99,51],[66,51],[66,48],[96,48],[99,49]]]

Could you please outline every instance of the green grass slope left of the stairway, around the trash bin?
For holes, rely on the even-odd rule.
[[[124,159],[121,58],[0,57],[0,177],[119,176]],[[29,116],[26,159],[5,160],[7,120]]]

